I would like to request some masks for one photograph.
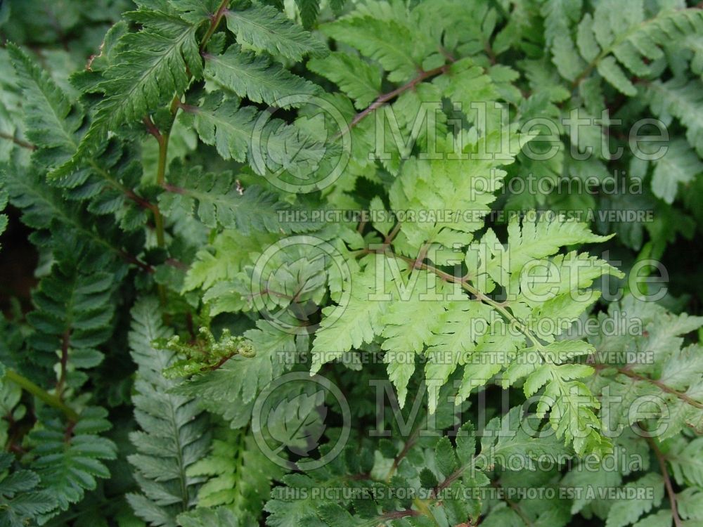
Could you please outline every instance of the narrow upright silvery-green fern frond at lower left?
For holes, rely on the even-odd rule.
[[[129,345],[138,366],[132,401],[141,430],[130,434],[137,453],[129,462],[142,494],[129,494],[127,500],[149,525],[172,527],[178,514],[195,505],[202,480],[187,471],[209,448],[207,416],[195,399],[170,393],[176,382],[162,375],[176,356],[153,347],[172,334],[162,323],[157,301],[143,299],[132,316]]]

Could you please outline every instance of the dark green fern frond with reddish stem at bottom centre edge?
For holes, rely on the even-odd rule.
[[[555,441],[547,441],[547,446],[543,438],[529,436],[523,424],[520,408],[512,408],[486,425],[488,433],[480,447],[471,422],[466,422],[455,441],[428,438],[420,445],[381,440],[365,442],[354,453],[349,448],[323,471],[283,476],[285,486],[275,488],[266,504],[268,523],[271,527],[430,526],[441,524],[440,519],[456,526],[478,523],[479,516],[487,515],[490,500],[469,490],[489,486],[495,467],[505,467],[508,460],[534,467],[538,460],[565,455]],[[318,488],[335,488],[339,497],[334,491],[318,496],[314,493]],[[401,488],[414,498],[399,496]],[[536,510],[531,518],[542,512]],[[545,520],[549,517],[546,514]],[[503,525],[495,521],[494,525]]]

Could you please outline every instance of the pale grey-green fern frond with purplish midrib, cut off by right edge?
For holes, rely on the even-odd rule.
[[[697,344],[683,345],[683,335],[702,327],[703,317],[674,315],[631,296],[612,304],[599,318],[607,316],[619,317],[623,331],[590,339],[595,346],[590,362],[598,372],[591,384],[600,389],[602,379],[609,382],[603,422],[614,431],[629,427],[638,414],[629,410],[633,403],[657,398],[661,403],[645,405],[640,412],[652,419],[661,441],[685,427],[703,429],[703,352]],[[628,358],[641,363],[624,362]]]

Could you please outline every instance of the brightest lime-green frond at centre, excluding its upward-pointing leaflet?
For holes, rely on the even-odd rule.
[[[437,176],[437,172],[434,175]],[[593,294],[583,294],[583,289],[591,287],[593,280],[603,274],[621,275],[607,262],[583,254],[572,252],[553,256],[562,245],[605,239],[593,235],[583,224],[572,221],[540,219],[537,216],[536,222],[524,220],[521,228],[520,221],[514,218],[508,225],[507,246],[499,245],[496,235],[489,230],[481,242],[470,245],[465,260],[468,271],[465,278],[449,280],[467,289],[475,295],[475,299],[462,299],[460,291],[449,287],[451,283],[439,280],[448,279],[434,266],[423,266],[423,270],[413,269],[414,266],[409,265],[399,266],[393,280],[385,282],[388,275],[379,273],[381,270],[386,273],[387,266],[392,269],[392,261],[398,256],[376,256],[387,261],[380,265],[375,263],[368,269],[372,278],[354,276],[355,283],[361,282],[358,294],[365,299],[363,305],[366,308],[371,306],[373,318],[367,318],[363,312],[360,312],[362,316],[357,316],[356,311],[351,311],[349,318],[341,322],[332,320],[328,325],[323,319],[313,346],[313,371],[318,370],[325,361],[342,357],[352,346],[360,346],[363,341],[380,336],[381,348],[386,351],[389,379],[396,386],[401,405],[408,382],[415,372],[415,356],[429,358],[425,376],[431,385],[428,386],[430,409],[434,410],[437,408],[436,386],[444,384],[458,365],[465,365],[465,376],[458,390],[457,402],[463,401],[475,386],[485,384],[490,377],[507,367],[506,386],[524,377],[528,377],[528,392],[534,393],[546,386],[542,396],[545,406],[540,413],[544,417],[546,411],[552,408],[550,422],[557,436],[565,438],[567,443],[573,443],[579,453],[605,452],[610,448],[610,443],[600,436],[600,422],[594,412],[598,403],[583,383],[574,381],[590,375],[592,370],[565,365],[576,356],[588,354],[591,348],[583,341],[554,342],[554,334],[560,334],[563,326],[555,327],[554,334],[542,334],[536,332],[531,323],[548,316],[555,309],[562,311],[560,315],[568,314],[570,320],[574,320],[597,298]],[[555,277],[548,282],[555,287],[547,291],[540,289],[538,281],[541,278],[533,278],[529,273],[528,263],[538,263],[537,267],[543,268],[548,263],[543,259],[549,256],[552,256],[549,265],[554,269]],[[412,261],[408,260],[408,263]],[[577,268],[581,268],[580,273],[576,273]],[[503,285],[508,292],[508,301],[504,306],[486,297],[495,283]],[[411,288],[409,292],[408,287]],[[403,293],[404,289],[406,294]],[[369,292],[377,295],[381,304],[385,300],[387,306],[382,307],[382,311],[378,311],[375,302],[369,301],[373,299],[369,297]],[[449,300],[450,294],[453,301]],[[465,307],[472,302],[485,305]],[[565,304],[569,304],[569,309],[565,309]],[[573,304],[573,309],[570,304]],[[353,306],[354,295],[348,306],[337,308]],[[327,308],[323,313],[330,316],[333,308]],[[460,324],[462,320],[469,323],[472,314],[493,322],[486,324],[484,332],[472,334],[466,330],[457,334],[455,324]],[[377,318],[379,315],[380,318]],[[504,323],[511,327],[517,324],[523,336],[510,334]],[[543,341],[550,344],[543,344]],[[447,353],[441,353],[443,350],[449,351],[451,360]],[[496,352],[501,355],[492,358],[491,353]],[[531,360],[522,360],[522,353],[527,353]],[[482,367],[477,368],[473,364],[474,359]],[[484,377],[479,379],[480,375]],[[530,378],[529,375],[534,377]],[[586,399],[588,404],[579,403]],[[557,415],[559,417],[555,417]]]

